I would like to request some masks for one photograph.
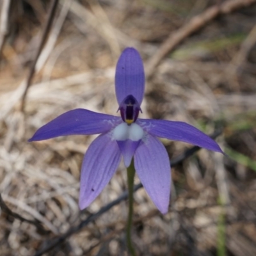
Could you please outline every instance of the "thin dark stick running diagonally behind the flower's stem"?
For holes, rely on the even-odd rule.
[[[218,131],[214,132],[213,134],[211,134],[211,138],[213,138],[213,139],[217,138],[221,134],[221,132],[222,132],[221,130],[218,130]],[[188,158],[189,156],[192,156],[198,150],[200,150],[200,147],[195,146],[195,147],[190,148],[189,150],[184,151],[182,154],[180,154],[180,156],[177,156],[177,157],[175,157],[174,159],[171,160],[171,166],[173,167],[173,166],[181,163],[184,159]],[[140,188],[142,188],[141,183],[134,186],[133,192],[136,192]],[[91,223],[92,221],[95,221],[102,214],[109,211],[112,207],[114,207],[115,205],[120,204],[120,202],[122,202],[124,200],[127,200],[127,198],[128,198],[128,191],[125,191],[118,198],[116,198],[115,200],[113,200],[109,204],[102,207],[98,212],[96,212],[95,214],[90,215],[86,220],[81,221],[79,223],[79,225],[77,225],[75,227],[71,227],[62,236],[56,237],[56,239],[52,239],[51,243],[44,243],[44,244],[47,244],[47,246],[45,246],[41,250],[38,250],[38,252],[36,252],[35,256],[40,256],[40,255],[43,255],[44,253],[47,253],[47,252],[51,251],[53,248],[55,248],[59,244],[63,243],[68,237],[70,237],[73,234],[79,232],[81,229],[86,227],[89,223]]]

